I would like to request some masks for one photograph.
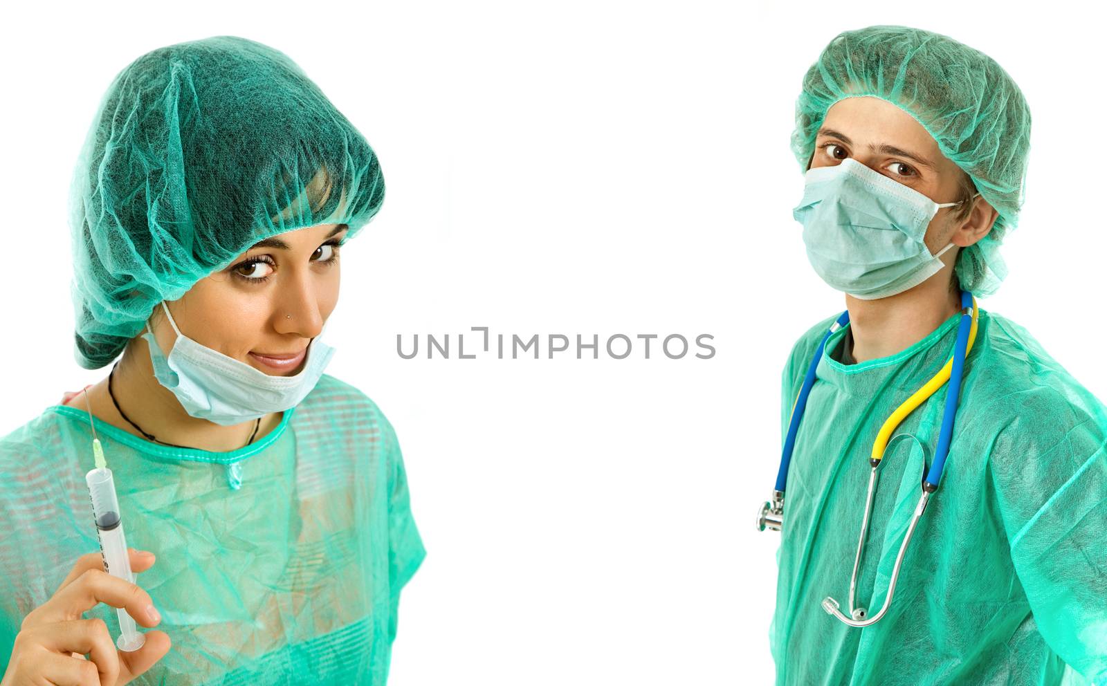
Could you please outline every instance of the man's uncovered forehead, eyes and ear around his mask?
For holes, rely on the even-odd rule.
[[[918,190],[934,202],[958,200],[961,170],[938,149],[938,142],[907,112],[879,97],[847,97],[835,103],[815,139],[811,168],[841,164],[852,157],[867,167]],[[940,208],[923,241],[931,254],[950,243],[958,207]],[[959,250],[940,258],[948,267]],[[944,269],[942,273],[949,278]],[[937,274],[935,274],[937,276]]]

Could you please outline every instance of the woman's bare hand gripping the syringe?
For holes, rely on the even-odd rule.
[[[134,572],[154,564],[153,553],[134,548],[127,553]],[[104,571],[99,552],[81,555],[54,595],[23,617],[0,686],[118,686],[149,669],[169,651],[169,636],[159,631],[145,632],[146,643],[137,651],[117,651],[107,624],[81,619],[96,603],[125,607],[143,626],[162,621],[145,591]]]

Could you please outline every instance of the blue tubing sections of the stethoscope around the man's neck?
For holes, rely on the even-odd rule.
[[[942,428],[938,435],[938,449],[924,480],[924,484],[930,486],[927,490],[931,492],[938,490],[938,486],[942,479],[942,468],[945,466],[945,457],[950,451],[950,439],[953,436],[953,418],[956,415],[958,402],[961,398],[961,378],[964,374],[965,354],[969,347],[969,331],[972,328],[971,312],[973,301],[972,293],[969,291],[961,291],[961,308],[962,315],[958,326],[956,344],[953,347],[953,366],[950,370],[950,381],[945,393],[945,408],[942,412]],[[965,313],[966,310],[969,313]],[[792,422],[788,424],[788,434],[784,439],[780,468],[776,474],[776,490],[780,492],[784,492],[785,486],[787,486],[788,467],[792,464],[792,453],[796,447],[796,434],[799,432],[799,422],[803,419],[804,410],[807,408],[807,396],[811,392],[811,386],[815,385],[815,371],[819,366],[819,360],[823,358],[823,351],[826,349],[827,339],[830,337],[831,333],[848,323],[849,310],[846,310],[830,325],[830,329],[823,334],[823,340],[819,341],[815,355],[811,357],[811,363],[807,367],[807,375],[804,376],[804,385],[799,391],[799,397],[792,413]]]

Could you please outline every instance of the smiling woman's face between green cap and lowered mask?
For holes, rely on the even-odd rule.
[[[166,303],[180,332],[273,376],[300,371],[303,352],[339,300],[339,243],[345,225],[323,224],[273,236]],[[291,316],[289,316],[291,315]],[[151,329],[163,351],[174,333],[155,308]],[[276,355],[289,358],[267,357]]]

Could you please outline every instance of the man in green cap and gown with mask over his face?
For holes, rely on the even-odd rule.
[[[976,309],[941,488],[887,607],[950,382],[878,456],[858,559],[881,426],[953,356],[961,290],[984,298],[1006,274],[999,248],[1030,148],[1022,93],[948,37],[869,27],[826,46],[796,114],[794,212],[848,322],[821,350],[840,312],[813,325],[783,374],[785,438],[815,365],[780,489],[776,683],[1107,683],[1107,408],[1004,316]],[[848,624],[828,597],[845,620],[877,621]]]

